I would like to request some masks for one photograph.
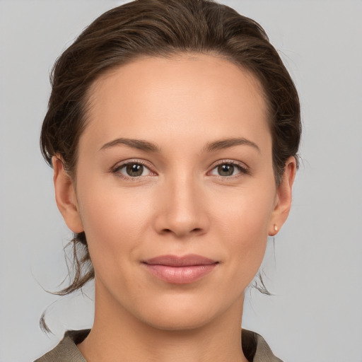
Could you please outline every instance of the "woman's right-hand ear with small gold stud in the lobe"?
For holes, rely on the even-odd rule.
[[[279,187],[276,189],[276,202],[269,225],[269,236],[274,236],[288,218],[291,210],[291,194],[294,178],[296,177],[296,158],[293,156],[286,160],[284,175]]]

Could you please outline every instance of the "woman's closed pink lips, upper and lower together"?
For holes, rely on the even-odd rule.
[[[158,279],[172,284],[189,284],[209,274],[218,262],[200,255],[161,255],[143,262]]]

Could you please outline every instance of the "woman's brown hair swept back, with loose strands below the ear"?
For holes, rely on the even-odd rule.
[[[95,79],[136,57],[185,52],[226,57],[262,84],[278,185],[286,159],[298,152],[298,93],[262,27],[210,0],[136,0],[103,13],[83,30],[52,71],[52,94],[40,139],[47,163],[52,165],[52,156],[58,155],[75,177],[78,140],[86,125],[87,92]],[[85,233],[75,234],[72,241],[75,274],[71,284],[58,292],[61,295],[76,291],[94,276]],[[78,250],[82,245],[83,250]]]

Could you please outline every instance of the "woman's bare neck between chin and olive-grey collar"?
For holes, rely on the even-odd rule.
[[[243,296],[206,325],[165,330],[137,319],[117,303],[105,303],[95,290],[94,324],[78,344],[88,362],[247,362],[241,349]]]

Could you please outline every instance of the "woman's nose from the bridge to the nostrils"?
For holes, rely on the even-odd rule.
[[[165,182],[157,204],[155,228],[160,234],[185,238],[209,228],[206,198],[192,175]]]

